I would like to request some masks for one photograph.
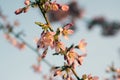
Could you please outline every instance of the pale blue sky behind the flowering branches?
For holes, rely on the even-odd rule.
[[[65,2],[66,0],[58,0]],[[24,0],[0,0],[0,7],[8,20],[13,23],[19,20],[21,25],[17,31],[24,30],[26,37],[23,37],[28,43],[36,47],[33,42],[34,37],[39,37],[41,28],[34,24],[35,21],[44,21],[38,9],[30,9],[28,13],[15,15],[14,11],[19,7],[23,7]],[[108,21],[120,21],[120,0],[78,0],[78,4],[85,8],[85,18],[91,19],[94,16],[105,16]],[[59,24],[52,24],[59,26]],[[116,67],[120,67],[120,33],[114,37],[103,37],[100,35],[100,28],[92,31],[87,30],[87,24],[83,20],[77,20],[76,25],[78,31],[69,41],[65,41],[67,45],[75,43],[79,40],[86,39],[88,56],[85,58],[83,65],[77,70],[78,75],[93,74],[101,77],[108,76],[105,68],[114,61]],[[23,51],[18,50],[4,39],[2,31],[0,31],[0,80],[41,80],[39,74],[35,74],[31,69],[31,65],[36,63],[36,54],[26,48]],[[53,57],[49,53],[46,57],[52,64],[62,64],[61,57]],[[59,59],[59,60],[58,60]],[[43,64],[44,73],[47,73],[49,67]]]

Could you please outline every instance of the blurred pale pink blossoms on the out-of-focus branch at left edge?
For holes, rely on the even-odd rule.
[[[1,19],[5,22],[4,25],[0,24],[1,29],[3,29],[4,31],[4,38],[6,40],[8,40],[13,46],[15,46],[16,48],[23,50],[26,46],[26,44],[24,42],[20,42],[18,41],[15,37],[19,37],[22,33],[22,31],[18,32],[15,37],[11,36],[11,33],[13,33],[13,29],[15,27],[13,27],[8,21],[7,21],[7,17],[5,15],[2,14],[2,12],[0,11],[0,17]],[[19,26],[19,22],[16,20],[13,23],[14,26]]]

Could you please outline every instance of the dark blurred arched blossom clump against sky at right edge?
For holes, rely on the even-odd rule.
[[[95,25],[100,25],[103,36],[114,36],[120,31],[120,22],[109,22],[102,16],[93,18],[88,24],[88,29],[91,30]]]

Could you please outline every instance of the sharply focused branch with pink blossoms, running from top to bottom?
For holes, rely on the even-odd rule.
[[[53,70],[52,76],[60,75],[64,80],[74,80],[72,78],[72,75],[74,75],[77,78],[77,80],[98,80],[98,78],[92,77],[90,75],[89,76],[84,75],[82,78],[79,78],[77,73],[75,72],[76,67],[82,65],[83,59],[87,55],[86,54],[87,43],[85,39],[80,40],[79,44],[77,45],[72,44],[69,47],[65,46],[64,42],[62,42],[61,40],[61,36],[64,36],[64,38],[68,40],[69,35],[74,33],[74,31],[71,29],[71,27],[74,25],[74,22],[68,23],[63,27],[59,27],[57,28],[56,31],[54,31],[46,15],[46,13],[50,11],[61,10],[63,12],[67,12],[69,11],[69,7],[71,6],[61,5],[58,4],[56,1],[52,2],[51,0],[35,0],[35,2],[31,2],[30,0],[25,0],[24,4],[26,5],[25,7],[19,8],[18,10],[15,11],[16,15],[22,12],[26,13],[30,6],[38,7],[46,21],[45,23],[35,22],[36,25],[42,28],[42,33],[37,41],[37,48],[38,50],[42,49],[43,52],[41,55],[38,56],[38,63],[40,63],[41,60],[43,60],[46,57],[48,53],[48,49],[51,48],[55,51],[53,55],[62,55],[64,57],[64,65],[54,66],[52,68]],[[81,16],[79,15],[79,13],[76,15]],[[82,54],[76,52],[76,49],[81,50]],[[32,67],[35,72],[41,71],[40,65],[33,65]],[[50,78],[50,80],[52,79]]]

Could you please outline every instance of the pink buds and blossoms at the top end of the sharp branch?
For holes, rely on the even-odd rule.
[[[48,12],[50,10],[57,11],[57,10],[62,10],[62,11],[68,11],[69,6],[67,5],[60,5],[56,3],[56,1],[51,2],[51,0],[40,0],[36,2],[31,2],[30,0],[25,0],[24,1],[25,7],[19,8],[15,11],[15,14],[18,15],[20,13],[26,13],[28,12],[30,6],[31,7],[39,7],[41,8],[44,12]],[[40,6],[38,6],[40,5]]]

